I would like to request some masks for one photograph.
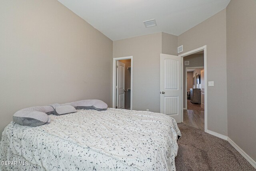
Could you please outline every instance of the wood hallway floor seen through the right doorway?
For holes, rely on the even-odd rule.
[[[204,111],[183,110],[183,123],[204,131]]]

